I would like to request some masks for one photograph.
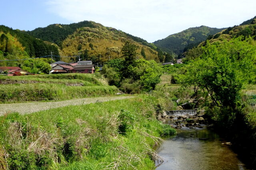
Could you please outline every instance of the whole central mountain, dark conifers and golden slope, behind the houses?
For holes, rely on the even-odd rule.
[[[138,47],[138,58],[159,61],[158,51],[160,50],[156,51],[157,48],[154,44],[93,21],[52,24],[45,28],[28,31],[28,33],[42,40],[56,43],[61,49],[62,56],[77,56],[79,52],[81,59],[90,59],[94,63],[102,63],[108,59],[120,57],[120,49],[126,41],[130,41]],[[62,57],[62,60],[69,62],[77,59]]]

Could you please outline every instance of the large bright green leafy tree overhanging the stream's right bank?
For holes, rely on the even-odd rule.
[[[207,42],[202,55],[189,64],[183,85],[207,90],[217,106],[234,110],[242,86],[252,82],[256,74],[256,46],[251,38],[242,39]]]

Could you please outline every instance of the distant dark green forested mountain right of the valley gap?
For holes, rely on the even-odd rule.
[[[200,27],[192,27],[169,35],[168,37],[155,41],[154,44],[164,49],[169,53],[176,53],[180,56],[187,49],[196,47],[202,41],[205,41],[208,35],[213,35],[220,32],[224,28],[211,28],[204,25]]]

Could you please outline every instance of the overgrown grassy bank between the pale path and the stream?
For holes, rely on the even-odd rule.
[[[156,120],[155,98],[0,117],[0,166],[10,169],[154,169],[152,147],[176,131]],[[126,126],[126,133],[120,127]],[[4,157],[6,155],[6,157]]]

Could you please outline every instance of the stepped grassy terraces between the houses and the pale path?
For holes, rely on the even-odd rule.
[[[109,96],[118,92],[115,86],[108,86],[100,74],[0,76],[0,81],[5,81],[5,84],[0,84],[0,102],[2,103],[68,100]],[[12,84],[6,84],[6,81]],[[77,83],[80,83],[80,86],[70,86]]]

